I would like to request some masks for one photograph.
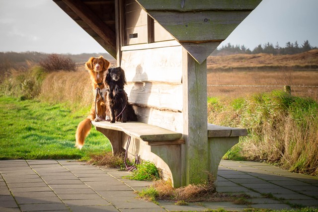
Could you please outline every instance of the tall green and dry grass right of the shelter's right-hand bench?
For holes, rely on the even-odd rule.
[[[239,99],[210,98],[209,122],[242,127],[248,136],[228,157],[265,160],[318,176],[318,102],[282,91]]]

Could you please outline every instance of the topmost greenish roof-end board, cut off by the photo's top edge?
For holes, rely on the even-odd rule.
[[[261,0],[137,0],[148,10],[247,10],[254,9]]]

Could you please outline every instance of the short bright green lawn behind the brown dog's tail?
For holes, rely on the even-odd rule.
[[[74,147],[77,125],[89,108],[70,109],[0,96],[0,159],[82,159],[111,151],[110,142],[94,128],[81,150]]]

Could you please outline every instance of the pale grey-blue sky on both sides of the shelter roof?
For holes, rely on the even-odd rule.
[[[220,47],[305,40],[318,47],[318,0],[262,0]],[[9,51],[106,52],[53,0],[0,0],[0,52]]]

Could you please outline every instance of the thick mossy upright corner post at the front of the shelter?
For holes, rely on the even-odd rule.
[[[207,64],[199,64],[182,48],[183,137],[182,185],[207,179]]]

